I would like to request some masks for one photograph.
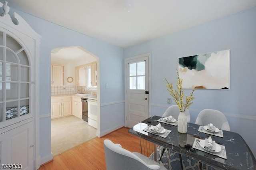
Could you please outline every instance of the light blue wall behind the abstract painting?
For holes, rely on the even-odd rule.
[[[151,115],[162,115],[170,98],[164,78],[176,82],[178,58],[224,49],[230,49],[230,90],[196,90],[191,123],[202,109],[222,111],[256,156],[256,8],[128,47],[124,57],[151,53]]]

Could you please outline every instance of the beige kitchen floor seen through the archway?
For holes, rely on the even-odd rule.
[[[53,156],[96,137],[96,130],[75,116],[52,119]]]

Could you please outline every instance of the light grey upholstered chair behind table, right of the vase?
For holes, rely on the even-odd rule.
[[[225,115],[214,109],[203,109],[196,118],[196,124],[206,126],[212,123],[215,127],[230,131],[230,126]]]

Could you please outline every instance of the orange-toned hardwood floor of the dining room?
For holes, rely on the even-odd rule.
[[[103,141],[110,139],[131,152],[140,152],[139,137],[120,128],[102,138],[93,138],[53,158],[39,170],[106,170]]]

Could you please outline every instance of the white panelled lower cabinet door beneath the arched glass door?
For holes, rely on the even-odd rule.
[[[34,169],[34,122],[14,125],[15,128],[0,131],[0,164],[12,165],[3,169]],[[21,168],[20,168],[21,167]]]

